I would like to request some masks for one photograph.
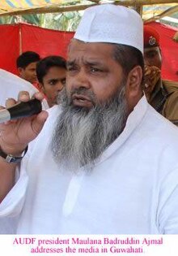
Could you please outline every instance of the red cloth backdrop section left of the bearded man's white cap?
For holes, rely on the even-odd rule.
[[[32,50],[41,58],[60,55],[66,58],[67,46],[74,33],[39,28],[29,24],[0,25],[0,68],[17,74],[19,54]]]

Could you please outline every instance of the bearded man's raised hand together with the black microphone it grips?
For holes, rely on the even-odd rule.
[[[48,113],[42,111],[43,98],[43,93],[35,93],[30,99],[28,92],[20,92],[19,102],[9,99],[6,109],[0,110],[0,147],[6,154],[21,154],[40,133],[48,118]]]

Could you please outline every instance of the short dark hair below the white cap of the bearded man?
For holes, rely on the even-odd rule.
[[[140,50],[133,46],[115,45],[113,58],[121,65],[125,77],[136,66],[142,67],[142,74],[144,74],[144,59]],[[142,77],[143,84],[144,77]]]

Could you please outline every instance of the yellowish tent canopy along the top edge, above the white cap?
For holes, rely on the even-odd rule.
[[[134,7],[142,15],[143,20],[161,15],[167,9],[171,10],[170,8],[173,13],[178,11],[177,0],[1,0],[0,16],[80,11],[102,2]]]

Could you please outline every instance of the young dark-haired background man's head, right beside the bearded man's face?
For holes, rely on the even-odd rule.
[[[66,85],[66,60],[60,56],[41,59],[36,66],[36,75],[49,106],[56,105],[57,95]]]

